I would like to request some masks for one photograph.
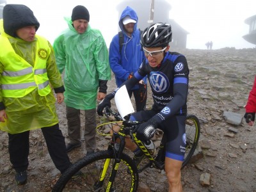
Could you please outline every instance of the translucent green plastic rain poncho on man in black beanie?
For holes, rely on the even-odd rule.
[[[71,19],[68,29],[54,41],[53,48],[60,73],[65,70],[65,104],[72,108],[96,108],[99,80],[111,79],[108,48],[99,30],[90,25],[77,33]]]

